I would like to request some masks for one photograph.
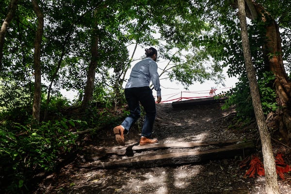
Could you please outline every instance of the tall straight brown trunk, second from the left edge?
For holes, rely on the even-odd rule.
[[[32,0],[33,10],[37,16],[37,30],[34,40],[34,97],[32,107],[33,119],[39,121],[40,115],[40,102],[41,102],[41,65],[40,65],[40,53],[41,53],[41,41],[44,30],[44,16],[38,6],[37,0]]]

